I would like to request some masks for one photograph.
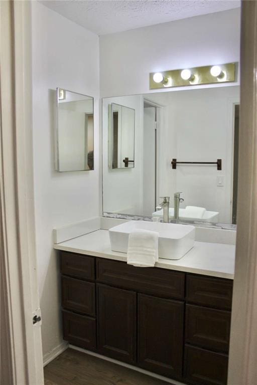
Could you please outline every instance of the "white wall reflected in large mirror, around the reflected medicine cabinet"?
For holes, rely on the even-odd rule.
[[[108,105],[117,103],[135,109],[135,167],[108,167]],[[143,170],[143,97],[105,98],[102,101],[103,211],[141,214]]]

